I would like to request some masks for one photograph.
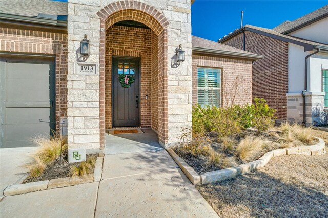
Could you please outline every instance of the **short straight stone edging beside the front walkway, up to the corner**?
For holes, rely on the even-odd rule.
[[[191,168],[191,166],[188,165],[188,163],[179,157],[172,149],[167,148],[166,150],[171,155],[176,164],[178,164],[178,166],[181,168],[182,172],[188,177],[191,183],[194,185],[201,183],[201,177],[193,168]]]

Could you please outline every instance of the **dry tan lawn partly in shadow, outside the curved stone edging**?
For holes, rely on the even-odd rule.
[[[328,154],[274,157],[265,167],[196,186],[223,218],[327,217]]]

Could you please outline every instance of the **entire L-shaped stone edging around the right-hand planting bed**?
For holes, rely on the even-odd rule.
[[[317,137],[315,137],[317,138]],[[272,157],[281,155],[291,155],[291,154],[302,154],[302,155],[321,155],[325,154],[325,143],[321,138],[317,138],[319,143],[312,146],[299,146],[286,149],[276,149],[265,153],[258,160],[252,161],[250,163],[241,164],[239,166],[220,169],[218,171],[211,171],[200,175],[195,172],[191,166],[189,166],[182,158],[180,158],[172,149],[167,149],[169,154],[172,156],[174,161],[180,166],[183,173],[189,178],[189,180],[194,184],[208,184],[223,181],[226,179],[232,179],[238,175],[243,175],[251,172],[254,169],[263,167],[271,160]],[[196,181],[196,182],[195,182]]]

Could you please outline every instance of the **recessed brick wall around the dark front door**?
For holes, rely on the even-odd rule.
[[[151,86],[158,86],[151,77],[151,30],[145,28],[111,26],[106,31],[105,58],[105,124],[112,128],[112,57],[128,56],[141,58],[140,112],[141,127],[151,126]],[[157,39],[157,37],[156,37]],[[157,41],[157,40],[156,40]],[[156,50],[157,51],[157,50]],[[157,63],[157,62],[156,62]],[[154,75],[154,78],[157,74]],[[145,99],[145,95],[148,99]]]

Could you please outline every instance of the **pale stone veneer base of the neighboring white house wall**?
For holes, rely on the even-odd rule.
[[[313,122],[328,122],[328,112],[324,108],[323,95],[305,95],[306,125]],[[302,124],[303,122],[303,98],[301,95],[288,94],[287,96],[287,117],[290,123]]]

